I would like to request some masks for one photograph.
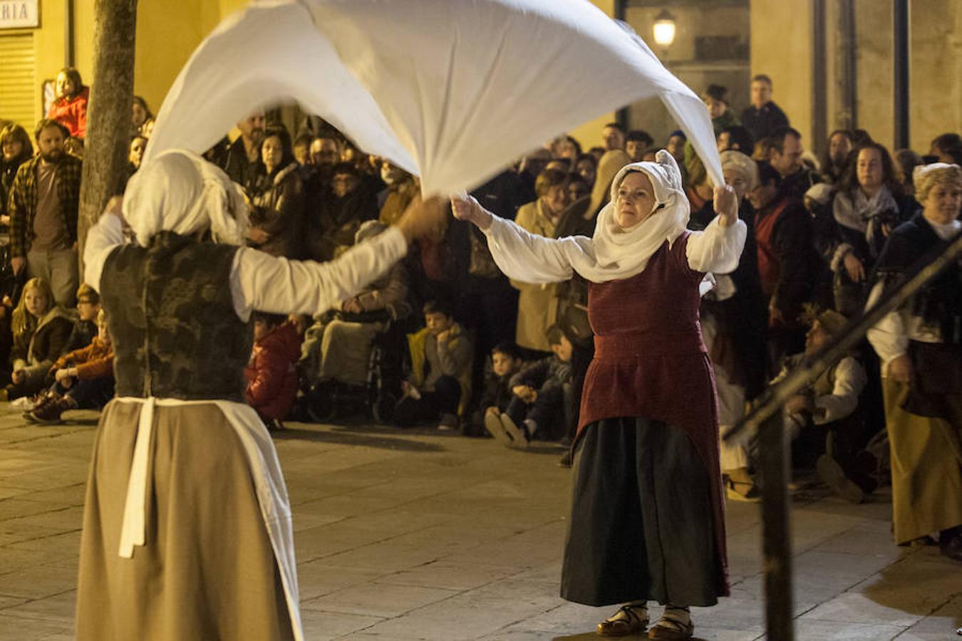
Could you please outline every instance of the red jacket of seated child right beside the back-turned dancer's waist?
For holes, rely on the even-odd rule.
[[[247,403],[262,417],[282,419],[297,396],[294,363],[300,358],[300,336],[284,323],[254,343],[250,363],[244,368]]]

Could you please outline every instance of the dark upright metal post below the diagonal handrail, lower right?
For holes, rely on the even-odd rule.
[[[765,574],[765,630],[770,639],[794,641],[792,605],[791,498],[788,494],[789,442],[781,414],[758,434],[762,473],[762,555]]]

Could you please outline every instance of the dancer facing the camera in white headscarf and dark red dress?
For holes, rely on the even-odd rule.
[[[691,605],[727,595],[715,383],[698,327],[706,272],[738,264],[746,225],[730,187],[719,215],[688,232],[675,160],[622,168],[592,238],[544,238],[455,199],[455,215],[488,236],[511,278],[590,282],[595,359],[575,439],[574,493],[562,597],[624,604],[598,633],[644,632],[647,601],[666,604],[653,639],[692,636]]]

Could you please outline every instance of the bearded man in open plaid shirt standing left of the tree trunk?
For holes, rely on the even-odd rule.
[[[77,272],[77,214],[83,162],[63,151],[68,132],[43,119],[35,131],[38,155],[20,165],[10,201],[13,273],[24,268],[51,284],[54,299],[73,307]]]

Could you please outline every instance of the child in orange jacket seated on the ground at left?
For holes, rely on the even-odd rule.
[[[114,344],[103,309],[97,312],[97,335],[90,344],[58,358],[47,376],[53,384],[23,415],[33,423],[61,423],[64,411],[104,407],[114,397]]]

